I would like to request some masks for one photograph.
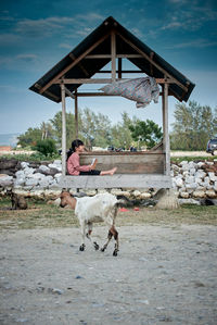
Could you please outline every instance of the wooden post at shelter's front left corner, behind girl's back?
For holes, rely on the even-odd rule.
[[[62,97],[62,175],[66,175],[66,117],[65,117],[65,86],[61,85]]]

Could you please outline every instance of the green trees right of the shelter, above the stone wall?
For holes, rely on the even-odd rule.
[[[176,104],[170,147],[174,150],[205,150],[208,139],[217,134],[217,110],[195,101]]]

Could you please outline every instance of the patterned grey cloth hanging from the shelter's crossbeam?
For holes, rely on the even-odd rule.
[[[145,108],[153,100],[158,102],[159,87],[155,78],[136,78],[115,82],[100,88],[107,95],[118,95],[137,102],[137,108]]]

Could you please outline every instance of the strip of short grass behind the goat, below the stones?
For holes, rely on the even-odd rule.
[[[74,211],[62,209],[44,201],[28,200],[27,210],[10,210],[11,202],[0,199],[0,230],[78,227]],[[117,226],[132,224],[181,225],[201,224],[217,225],[217,207],[182,205],[176,210],[141,208],[140,211],[128,209],[119,212]]]

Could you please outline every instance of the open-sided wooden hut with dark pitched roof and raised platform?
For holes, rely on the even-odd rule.
[[[137,70],[124,71],[127,59]],[[111,70],[102,70],[108,62]],[[97,73],[107,78],[92,78]],[[76,136],[78,135],[78,98],[108,96],[103,92],[79,91],[84,84],[110,84],[122,80],[124,74],[139,73],[152,76],[162,86],[163,143],[146,152],[88,152],[81,155],[81,164],[98,158],[100,170],[117,166],[113,176],[66,175],[66,123],[65,98],[75,102]],[[168,96],[187,101],[194,88],[186,76],[162,59],[141,40],[124,28],[113,17],[107,17],[73,51],[53,66],[29,89],[55,102],[62,102],[62,166],[61,185],[71,188],[169,188],[170,157],[168,135]],[[72,139],[73,140],[73,139]]]

